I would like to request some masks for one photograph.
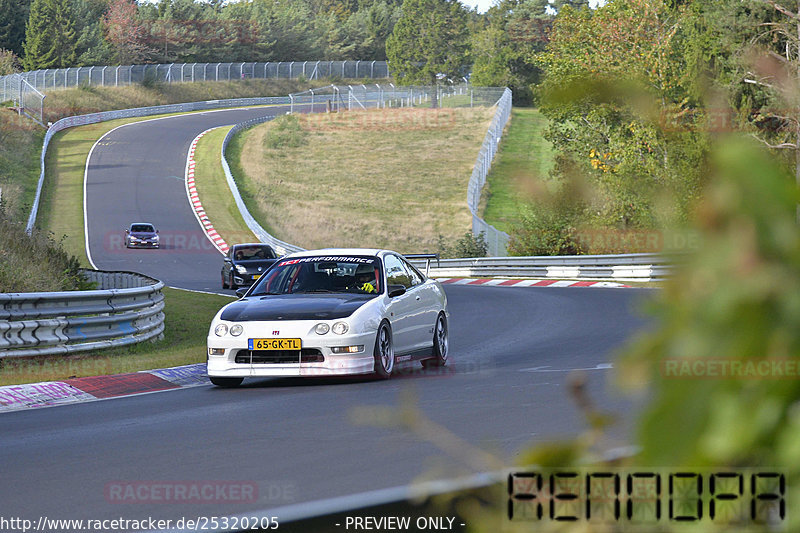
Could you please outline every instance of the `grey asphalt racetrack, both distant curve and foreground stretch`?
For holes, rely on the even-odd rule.
[[[183,185],[191,140],[215,125],[281,112],[204,113],[126,126],[94,150],[88,228],[98,268],[136,270],[169,285],[218,290],[219,252],[192,249],[200,232]],[[183,248],[116,249],[131,221],[155,223]],[[163,237],[162,237],[163,238]],[[173,238],[175,243],[175,238]],[[645,322],[647,291],[580,288],[446,288],[451,310],[447,371],[401,371],[389,381],[261,379],[0,416],[0,515],[38,520],[230,516],[487,470],[402,428],[356,424],[360,407],[419,412],[474,449],[513,464],[526,446],[586,429],[567,376],[581,370],[589,397],[619,422],[604,443],[630,441],[635,403],[609,386],[616,350]],[[211,317],[209,317],[210,320]],[[437,440],[437,439],[433,439]],[[119,483],[232,482],[257,487],[246,503],[120,503]],[[503,502],[498,502],[502,504]]]

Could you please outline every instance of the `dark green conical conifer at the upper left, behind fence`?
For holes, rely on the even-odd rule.
[[[70,0],[33,0],[25,27],[25,70],[75,64],[77,36]]]

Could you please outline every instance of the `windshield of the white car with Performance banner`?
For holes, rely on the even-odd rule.
[[[277,263],[249,296],[308,293],[376,296],[382,286],[380,261],[375,257],[302,257]]]

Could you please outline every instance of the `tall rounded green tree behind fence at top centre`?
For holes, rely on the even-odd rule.
[[[392,75],[403,84],[460,78],[469,64],[467,12],[457,0],[405,0],[386,41]]]

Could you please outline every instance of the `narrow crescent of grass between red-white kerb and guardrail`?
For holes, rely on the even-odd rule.
[[[225,172],[220,164],[220,150],[225,135],[233,126],[216,128],[197,143],[194,180],[197,194],[217,233],[228,245],[239,242],[258,242],[247,227],[233,199]]]

